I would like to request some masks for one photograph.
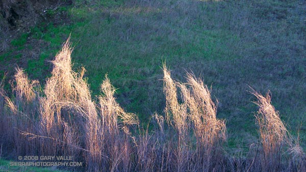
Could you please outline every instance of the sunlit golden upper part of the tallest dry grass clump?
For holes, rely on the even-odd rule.
[[[71,69],[69,39],[63,44],[62,50],[55,56],[55,60],[52,61],[54,64],[52,76],[46,80],[45,96],[40,98],[41,126],[47,132],[50,132],[56,123],[61,123],[63,102],[69,101],[77,93],[72,85],[77,75]]]

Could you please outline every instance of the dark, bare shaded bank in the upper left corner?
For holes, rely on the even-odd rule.
[[[30,27],[47,21],[49,10],[72,5],[72,1],[59,0],[1,0],[0,1],[0,52],[9,48],[13,38],[20,33],[28,32]]]

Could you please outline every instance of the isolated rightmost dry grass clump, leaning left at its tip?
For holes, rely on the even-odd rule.
[[[257,98],[254,102],[259,106],[256,120],[264,152],[262,165],[264,170],[279,170],[282,160],[282,149],[291,146],[291,136],[286,129],[278,111],[271,104],[270,92],[263,96],[251,88],[251,93]]]

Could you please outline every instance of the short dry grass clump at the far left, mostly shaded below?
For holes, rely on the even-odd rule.
[[[2,135],[3,140],[9,140],[8,145],[13,146],[17,154],[24,155],[37,152],[37,142],[27,143],[20,131],[33,132],[36,121],[34,120],[38,111],[37,92],[35,88],[39,87],[38,81],[31,81],[27,74],[20,68],[16,68],[14,82],[11,82],[12,95],[9,98],[5,91],[1,91],[2,105]],[[2,86],[1,86],[2,87]]]

